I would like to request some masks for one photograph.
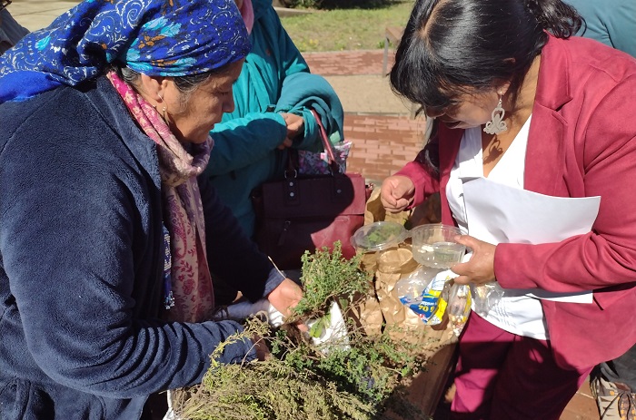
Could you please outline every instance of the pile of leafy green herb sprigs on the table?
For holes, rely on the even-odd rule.
[[[332,253],[305,254],[304,296],[290,322],[325,319],[333,301],[355,307],[371,286],[359,257],[343,259],[337,243]],[[224,345],[257,335],[267,341],[271,357],[221,365],[217,358],[224,345],[218,347],[202,384],[174,402],[178,415],[192,420],[371,420],[388,418],[383,413],[391,401],[405,418],[428,418],[404,398],[402,388],[402,380],[423,366],[420,345],[395,342],[388,333],[367,336],[351,318],[346,326],[344,342],[325,347],[292,324],[272,328],[248,319],[245,330]]]

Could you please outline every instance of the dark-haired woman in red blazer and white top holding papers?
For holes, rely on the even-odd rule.
[[[442,221],[471,233],[455,281],[503,291],[462,332],[452,418],[558,419],[592,366],[636,342],[636,62],[571,37],[580,26],[560,0],[418,0],[397,49],[393,88],[437,130],[383,204],[440,191]],[[474,205],[493,190],[523,209]],[[537,202],[563,209],[548,220],[598,214],[533,241]]]

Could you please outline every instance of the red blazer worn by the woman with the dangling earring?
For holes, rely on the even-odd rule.
[[[440,124],[440,178],[418,161],[399,171],[416,185],[413,205],[440,190],[442,221],[453,223],[446,184],[462,130]],[[636,60],[583,38],[550,37],[525,157],[524,188],[555,197],[601,196],[588,234],[560,243],[499,244],[503,288],[594,290],[592,304],[542,300],[552,351],[565,368],[621,356],[636,343]]]

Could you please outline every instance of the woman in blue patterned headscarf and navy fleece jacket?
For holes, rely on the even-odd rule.
[[[242,330],[211,276],[298,301],[195,178],[249,49],[232,0],[91,0],[0,58],[0,417],[139,418],[199,382]]]

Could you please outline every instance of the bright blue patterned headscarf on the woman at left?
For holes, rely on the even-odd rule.
[[[115,61],[184,76],[234,63],[250,48],[234,0],[84,0],[0,56],[0,103],[93,79]]]

